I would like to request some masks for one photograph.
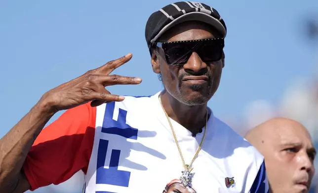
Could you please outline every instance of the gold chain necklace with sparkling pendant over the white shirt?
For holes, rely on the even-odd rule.
[[[165,110],[164,110],[164,108],[163,108],[163,105],[162,105],[160,96],[159,96],[159,101],[160,101],[160,105],[161,105],[161,107],[162,107],[162,110],[163,110],[163,112],[164,112],[164,114],[165,114],[165,116],[166,116],[166,118],[167,118],[167,120],[168,120],[168,122],[169,122],[171,131],[172,131],[172,134],[173,134],[174,141],[175,141],[175,143],[176,143],[176,145],[177,145],[177,148],[178,148],[178,151],[179,151],[179,154],[180,154],[182,163],[183,163],[183,167],[184,167],[184,169],[185,169],[184,171],[182,171],[182,175],[181,175],[181,177],[180,177],[180,181],[181,181],[181,183],[183,184],[183,186],[186,188],[186,187],[188,187],[188,186],[191,184],[191,182],[192,182],[192,177],[193,177],[193,173],[191,173],[191,171],[192,171],[192,169],[193,169],[192,164],[193,164],[193,162],[196,160],[196,158],[198,157],[199,152],[200,152],[200,150],[201,150],[201,147],[202,147],[202,145],[203,145],[204,138],[205,138],[206,125],[207,125],[207,110],[206,110],[206,121],[205,121],[204,133],[203,133],[203,137],[202,137],[201,143],[200,143],[200,145],[199,145],[199,147],[198,147],[198,150],[197,150],[195,156],[193,157],[192,161],[191,161],[189,164],[186,164],[185,161],[184,161],[184,158],[183,158],[183,156],[182,156],[182,152],[181,152],[181,149],[180,149],[179,142],[178,142],[178,140],[177,140],[176,133],[174,132],[174,129],[173,129],[173,127],[172,127],[172,124],[171,124],[171,122],[170,122],[170,118],[169,118],[168,114],[165,112]]]

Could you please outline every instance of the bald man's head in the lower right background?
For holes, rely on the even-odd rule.
[[[250,130],[245,138],[263,154],[273,193],[309,192],[316,150],[303,125],[275,118]]]

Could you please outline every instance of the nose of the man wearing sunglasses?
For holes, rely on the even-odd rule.
[[[189,73],[197,74],[202,71],[204,71],[202,73],[205,73],[207,70],[207,65],[201,60],[198,53],[193,52],[188,62],[183,65],[183,68]]]

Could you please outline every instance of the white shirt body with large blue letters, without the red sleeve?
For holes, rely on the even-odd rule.
[[[191,188],[178,179],[183,164],[171,128],[154,96],[125,96],[97,107],[94,145],[85,193],[267,193],[263,156],[210,109],[206,137],[193,163]],[[196,137],[170,119],[186,164]],[[174,192],[173,192],[174,191]]]

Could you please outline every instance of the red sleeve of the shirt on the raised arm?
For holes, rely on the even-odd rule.
[[[67,110],[40,132],[23,165],[32,191],[60,184],[79,170],[87,172],[95,121],[96,107],[86,103]]]

